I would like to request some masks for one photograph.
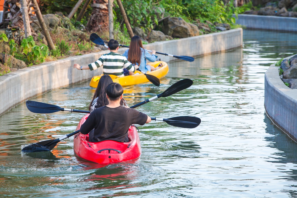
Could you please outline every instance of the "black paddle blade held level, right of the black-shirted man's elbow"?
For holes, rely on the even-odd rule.
[[[197,127],[201,122],[200,118],[192,116],[178,116],[174,118],[164,119],[164,121],[170,124],[171,126],[177,126],[188,129]]]

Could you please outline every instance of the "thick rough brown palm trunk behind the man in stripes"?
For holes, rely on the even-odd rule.
[[[93,12],[86,29],[90,32],[108,32],[108,0],[94,0]]]

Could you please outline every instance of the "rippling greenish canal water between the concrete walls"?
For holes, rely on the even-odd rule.
[[[0,197],[297,197],[297,143],[264,109],[264,73],[294,53],[296,33],[244,30],[243,48],[171,62],[160,87],[126,87],[131,106],[190,78],[190,88],[137,110],[202,122],[139,126],[140,158],[106,167],[78,159],[73,137],[52,152],[21,153],[23,145],[75,131],[84,115],[36,114],[22,103],[0,116]],[[93,94],[85,82],[31,100],[87,110]]]

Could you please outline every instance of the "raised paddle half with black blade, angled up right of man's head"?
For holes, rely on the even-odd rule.
[[[193,84],[193,80],[191,79],[183,79],[183,80],[180,80],[176,83],[174,83],[173,85],[171,85],[168,89],[166,89],[162,94],[158,94],[157,96],[154,96],[150,99],[147,99],[143,102],[140,102],[138,104],[135,104],[133,105],[132,107],[130,108],[136,108],[136,107],[139,107],[140,105],[143,105],[143,104],[146,104],[154,99],[157,99],[157,98],[160,98],[160,97],[167,97],[167,96],[171,96],[172,94],[175,94],[177,93],[178,91],[181,91],[181,90],[184,90],[188,87],[190,87],[191,85]]]

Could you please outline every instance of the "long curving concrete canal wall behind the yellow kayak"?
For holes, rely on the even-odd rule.
[[[199,56],[208,53],[230,50],[242,46],[242,29],[206,34],[171,41],[154,42],[145,47],[177,56]],[[121,48],[123,54],[127,48]],[[51,89],[79,83],[102,73],[102,68],[94,71],[73,69],[73,64],[86,65],[96,61],[102,54],[91,53],[73,56],[58,61],[46,62],[25,69],[19,69],[0,76],[0,115],[27,99]],[[163,61],[177,60],[170,56],[159,55]]]

